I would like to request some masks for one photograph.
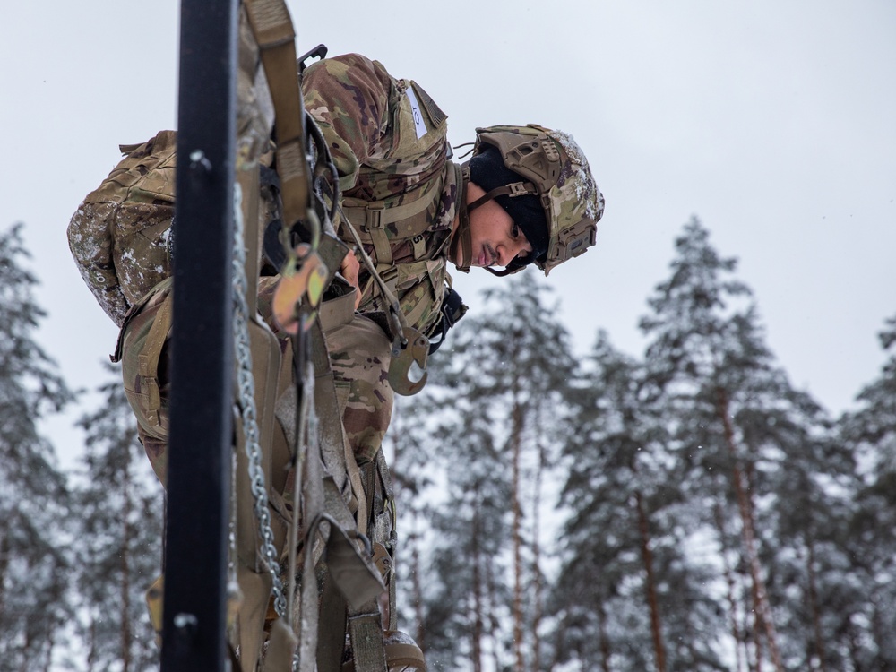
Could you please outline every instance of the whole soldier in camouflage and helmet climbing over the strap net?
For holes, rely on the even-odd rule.
[[[393,78],[375,61],[354,54],[325,59],[307,68],[302,86],[305,108],[339,176],[338,236],[363,248],[358,254],[368,257],[397,297],[406,323],[431,339],[444,339],[465,309],[451,289],[448,262],[463,272],[476,266],[496,275],[535,264],[547,275],[594,244],[603,196],[569,135],[537,125],[478,129],[472,157],[461,165],[451,160],[447,117],[435,101],[416,82]],[[263,100],[253,102],[264,108]],[[265,126],[263,115],[250,116],[254,126]],[[255,141],[261,135],[256,130]],[[82,203],[68,231],[82,276],[122,327],[116,358],[123,361],[125,392],[162,483],[174,146],[174,135],[162,132],[131,148],[121,169]],[[276,197],[270,189],[265,194],[263,210],[270,214]],[[392,343],[375,317],[388,309],[389,297],[355,254],[349,253],[341,271],[357,295],[354,306],[324,324],[327,349],[355,460],[382,478],[375,465],[383,465],[381,444],[392,414]],[[286,335],[271,314],[278,280],[259,279],[258,308],[285,350]],[[281,425],[284,435],[295,426],[283,418]],[[288,495],[282,476],[272,480],[272,489]],[[382,483],[375,487],[388,490]],[[367,498],[377,501],[370,493]],[[379,502],[368,521],[358,521],[362,530],[368,522],[381,529],[382,496]],[[391,528],[392,521],[386,524]],[[394,615],[386,615],[384,625],[393,628]]]

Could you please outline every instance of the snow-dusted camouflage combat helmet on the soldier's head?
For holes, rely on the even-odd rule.
[[[604,197],[591,175],[587,159],[571,135],[534,124],[476,129],[471,160],[491,148],[499,152],[504,167],[520,179],[487,189],[486,195],[466,207],[461,219],[467,220],[470,211],[491,199],[531,194],[545,213],[547,245],[537,255],[514,259],[503,271],[491,268],[487,271],[508,275],[535,263],[547,275],[555,266],[594,245],[597,223],[604,213]],[[465,175],[469,177],[469,163],[465,167]],[[463,224],[467,230],[461,237],[469,240],[469,220]],[[458,242],[466,246],[463,241]],[[469,258],[469,255],[464,257]]]

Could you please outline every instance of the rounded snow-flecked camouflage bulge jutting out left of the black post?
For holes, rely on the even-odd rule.
[[[120,149],[125,158],[68,225],[78,270],[118,326],[131,306],[171,274],[177,134],[161,131]]]

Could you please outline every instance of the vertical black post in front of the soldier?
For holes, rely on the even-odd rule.
[[[237,0],[182,0],[163,672],[225,670]]]

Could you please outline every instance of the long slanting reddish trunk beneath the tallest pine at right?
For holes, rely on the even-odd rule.
[[[717,406],[716,411],[722,421],[723,431],[725,433],[725,442],[728,444],[728,452],[731,456],[732,479],[734,481],[734,489],[737,495],[737,508],[741,517],[741,534],[744,539],[744,547],[746,552],[747,564],[750,568],[750,578],[753,581],[753,593],[756,609],[756,625],[765,632],[766,639],[769,642],[769,651],[771,653],[771,662],[774,665],[775,672],[784,672],[784,666],[781,662],[780,649],[778,648],[778,634],[775,632],[774,622],[771,618],[771,607],[769,606],[768,596],[765,591],[765,583],[762,581],[762,569],[759,564],[759,556],[756,552],[756,540],[753,521],[753,507],[749,500],[745,487],[745,476],[740,467],[740,459],[737,454],[737,445],[734,439],[734,427],[731,426],[731,418],[729,416],[728,394],[722,388],[716,388]],[[756,642],[759,642],[759,631],[756,632]],[[757,672],[759,658],[757,657]]]

